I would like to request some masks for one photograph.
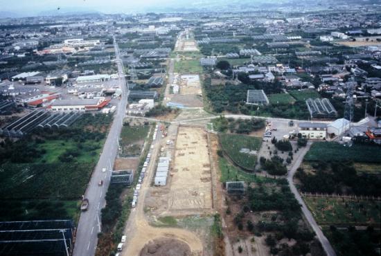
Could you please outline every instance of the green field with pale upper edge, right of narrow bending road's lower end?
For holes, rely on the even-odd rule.
[[[314,215],[314,219],[321,225],[380,225],[380,201],[348,200],[304,197]]]

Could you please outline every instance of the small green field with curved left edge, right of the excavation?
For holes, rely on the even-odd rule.
[[[262,138],[236,134],[220,134],[220,144],[231,160],[247,170],[254,170],[257,157],[254,154],[240,153],[242,148],[258,151]]]

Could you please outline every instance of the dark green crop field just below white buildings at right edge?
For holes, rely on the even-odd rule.
[[[312,144],[305,161],[354,161],[359,163],[381,163],[381,148],[369,145],[344,147],[334,142]]]

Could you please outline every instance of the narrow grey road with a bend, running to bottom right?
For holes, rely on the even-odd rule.
[[[307,219],[308,223],[310,223],[311,228],[316,233],[317,238],[319,239],[321,246],[323,246],[327,256],[336,256],[335,250],[333,250],[332,246],[330,245],[330,242],[328,241],[326,236],[323,234],[323,232],[317,225],[316,221],[314,220],[314,217],[312,217],[310,210],[308,210],[303,199],[301,198],[301,195],[299,194],[298,190],[296,190],[294,182],[292,181],[292,178],[294,177],[296,170],[301,165],[304,155],[308,152],[308,149],[310,149],[311,145],[312,143],[308,143],[307,147],[303,147],[302,149],[300,149],[300,150],[303,150],[303,152],[299,154],[299,157],[296,159],[294,165],[292,166],[290,172],[288,173],[287,181],[288,181],[288,184],[290,185],[291,192],[294,194],[296,200],[298,200],[298,202],[301,204],[301,210],[305,216],[305,219]]]

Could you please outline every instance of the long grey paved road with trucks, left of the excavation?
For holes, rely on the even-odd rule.
[[[107,136],[103,152],[100,154],[100,158],[96,168],[91,176],[90,183],[87,187],[85,197],[89,199],[89,210],[80,214],[80,220],[78,222],[76,243],[74,244],[73,255],[74,256],[92,256],[95,254],[96,245],[98,243],[97,234],[100,232],[100,210],[105,206],[105,194],[109,186],[109,176],[111,173],[109,170],[114,165],[114,160],[118,152],[118,138],[121,134],[123,118],[125,116],[125,108],[128,98],[128,84],[126,86],[126,80],[123,71],[123,63],[120,59],[120,53],[118,45],[114,38],[114,48],[116,53],[116,64],[118,65],[118,80],[122,89],[122,97],[118,103],[116,113],[114,115],[114,121],[110,127],[109,134]],[[102,169],[107,167],[107,172],[102,172]],[[98,186],[98,182],[103,180],[103,186]]]

